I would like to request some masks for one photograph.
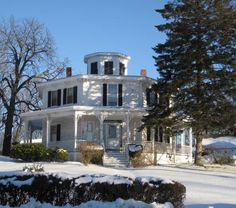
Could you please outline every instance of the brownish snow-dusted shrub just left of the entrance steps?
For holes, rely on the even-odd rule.
[[[103,164],[104,149],[95,142],[81,142],[78,147],[84,164]]]

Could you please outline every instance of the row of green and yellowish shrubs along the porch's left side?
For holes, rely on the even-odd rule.
[[[43,144],[16,144],[13,145],[10,156],[26,162],[63,162],[67,160],[68,152],[60,148],[46,148]]]

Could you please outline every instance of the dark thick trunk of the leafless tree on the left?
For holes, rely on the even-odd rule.
[[[12,140],[12,127],[13,127],[13,118],[14,118],[14,111],[15,105],[14,100],[11,100],[11,105],[8,108],[7,112],[7,120],[5,125],[5,132],[4,132],[4,140],[3,140],[3,148],[2,148],[2,155],[9,156],[11,151],[11,140]]]

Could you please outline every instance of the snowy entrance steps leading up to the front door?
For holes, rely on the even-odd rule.
[[[103,156],[103,165],[113,167],[127,167],[129,165],[129,159],[124,152],[107,151]]]

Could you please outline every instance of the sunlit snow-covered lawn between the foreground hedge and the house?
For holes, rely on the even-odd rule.
[[[14,162],[0,156],[0,175],[22,173],[26,163]],[[83,174],[123,175],[128,177],[153,176],[176,180],[187,188],[186,207],[190,208],[235,208],[236,168],[224,166],[224,172],[185,165],[181,167],[149,166],[144,168],[108,168],[96,165],[84,166],[78,162],[43,163],[45,172],[57,173],[64,177]],[[119,202],[121,203],[122,200]],[[118,202],[117,202],[118,203]]]

